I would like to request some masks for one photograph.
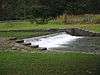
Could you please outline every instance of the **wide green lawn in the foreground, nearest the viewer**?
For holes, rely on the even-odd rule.
[[[97,57],[83,53],[0,52],[0,75],[96,75]]]

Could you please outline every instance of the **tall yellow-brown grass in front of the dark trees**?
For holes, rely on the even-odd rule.
[[[61,15],[57,17],[57,21],[65,24],[97,24],[100,23],[100,15]]]

